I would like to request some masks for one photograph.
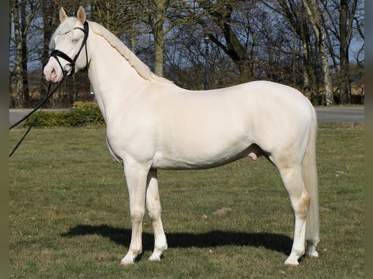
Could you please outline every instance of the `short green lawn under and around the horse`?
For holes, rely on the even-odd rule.
[[[10,147],[25,131],[10,132]],[[168,250],[144,218],[143,254],[120,260],[131,239],[122,166],[105,129],[34,129],[9,160],[10,278],[363,278],[364,127],[322,125],[317,136],[319,258],[283,264],[294,217],[264,158],[202,171],[159,171]],[[225,215],[212,214],[231,208]],[[204,216],[205,215],[205,216]]]

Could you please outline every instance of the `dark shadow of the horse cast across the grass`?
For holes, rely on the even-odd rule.
[[[77,225],[68,232],[62,233],[62,237],[75,237],[79,235],[102,235],[112,242],[129,246],[131,242],[131,229],[108,226],[106,224]],[[245,233],[213,230],[206,233],[172,232],[166,233],[168,248],[188,247],[217,247],[226,245],[264,247],[273,251],[290,254],[293,240],[285,235],[275,233]],[[143,251],[152,250],[154,236],[152,233],[143,232]]]

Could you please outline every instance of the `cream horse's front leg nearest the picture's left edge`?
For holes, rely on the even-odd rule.
[[[142,252],[142,220],[145,212],[146,183],[149,169],[139,164],[125,164],[127,187],[130,197],[132,223],[131,244],[127,255],[120,262],[131,264]]]

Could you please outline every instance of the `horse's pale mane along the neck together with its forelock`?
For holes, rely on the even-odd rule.
[[[76,24],[76,20],[77,19],[75,17],[69,17],[63,22],[65,24],[60,24],[57,27],[49,43],[50,49],[55,49],[56,36],[67,34],[69,30],[71,31]],[[130,63],[133,69],[135,69],[141,77],[149,81],[156,80],[162,83],[173,84],[173,82],[169,81],[168,79],[157,76],[155,73],[153,73],[148,65],[142,62],[121,40],[119,40],[105,27],[93,21],[88,21],[88,24],[90,26],[90,30],[94,34],[103,37],[113,48],[115,48]]]

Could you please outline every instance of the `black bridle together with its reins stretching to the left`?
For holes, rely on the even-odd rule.
[[[83,70],[87,70],[88,68],[88,51],[87,51],[87,39],[88,39],[88,33],[89,33],[89,26],[88,26],[88,22],[85,21],[84,22],[84,29],[81,28],[81,27],[75,27],[73,28],[72,30],[75,30],[75,29],[80,29],[81,31],[83,31],[84,33],[84,38],[83,38],[83,42],[80,46],[80,49],[79,51],[75,54],[74,58],[72,59],[69,55],[67,55],[65,52],[61,52],[60,50],[53,50],[51,52],[51,55],[49,57],[54,57],[56,59],[56,61],[58,62],[59,66],[61,67],[61,70],[62,70],[62,79],[61,81],[56,85],[56,87],[51,91],[51,84],[49,84],[49,87],[48,87],[48,93],[47,93],[47,97],[45,97],[45,99],[35,108],[33,109],[29,114],[27,114],[25,117],[23,117],[21,120],[19,120],[17,123],[13,124],[12,126],[9,127],[9,130],[13,129],[14,127],[18,126],[21,122],[23,122],[25,119],[27,119],[29,116],[31,116],[35,111],[37,111],[37,109],[40,108],[39,110],[39,113],[37,114],[35,120],[30,124],[30,127],[27,129],[26,133],[23,135],[23,137],[19,140],[19,142],[17,143],[16,147],[13,149],[13,151],[10,153],[9,157],[11,157],[13,155],[13,153],[17,150],[17,148],[19,147],[19,145],[21,144],[21,142],[24,140],[24,138],[26,137],[26,135],[30,132],[32,126],[34,125],[34,123],[37,121],[37,118],[39,117],[40,115],[40,112],[41,112],[41,109],[43,108],[43,105],[45,104],[45,102],[53,95],[53,93],[56,92],[57,88],[62,84],[62,82],[65,80],[66,76],[70,76],[70,75],[73,75],[75,73],[75,62],[76,60],[78,59],[79,57],[79,54],[80,52],[82,51],[83,47],[85,46],[86,48],[86,67],[83,69]],[[70,30],[70,31],[72,31]],[[69,33],[70,31],[67,31],[65,32],[64,34],[62,35],[65,35],[67,33]],[[66,61],[68,61],[69,63],[65,65],[65,67],[62,67],[61,63],[59,62],[58,60],[58,57],[62,58],[62,59],[65,59]],[[66,69],[66,66],[69,67],[69,69]],[[70,71],[70,73],[69,73]],[[69,74],[68,74],[69,73]]]

